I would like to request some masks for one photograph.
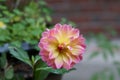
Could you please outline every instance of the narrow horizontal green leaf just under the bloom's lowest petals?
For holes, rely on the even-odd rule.
[[[70,70],[66,70],[66,69],[53,69],[51,67],[44,67],[44,68],[38,68],[37,70],[45,70],[45,71],[52,72],[55,74],[64,74],[64,73],[68,73],[71,70],[76,70],[76,69],[72,68]]]

